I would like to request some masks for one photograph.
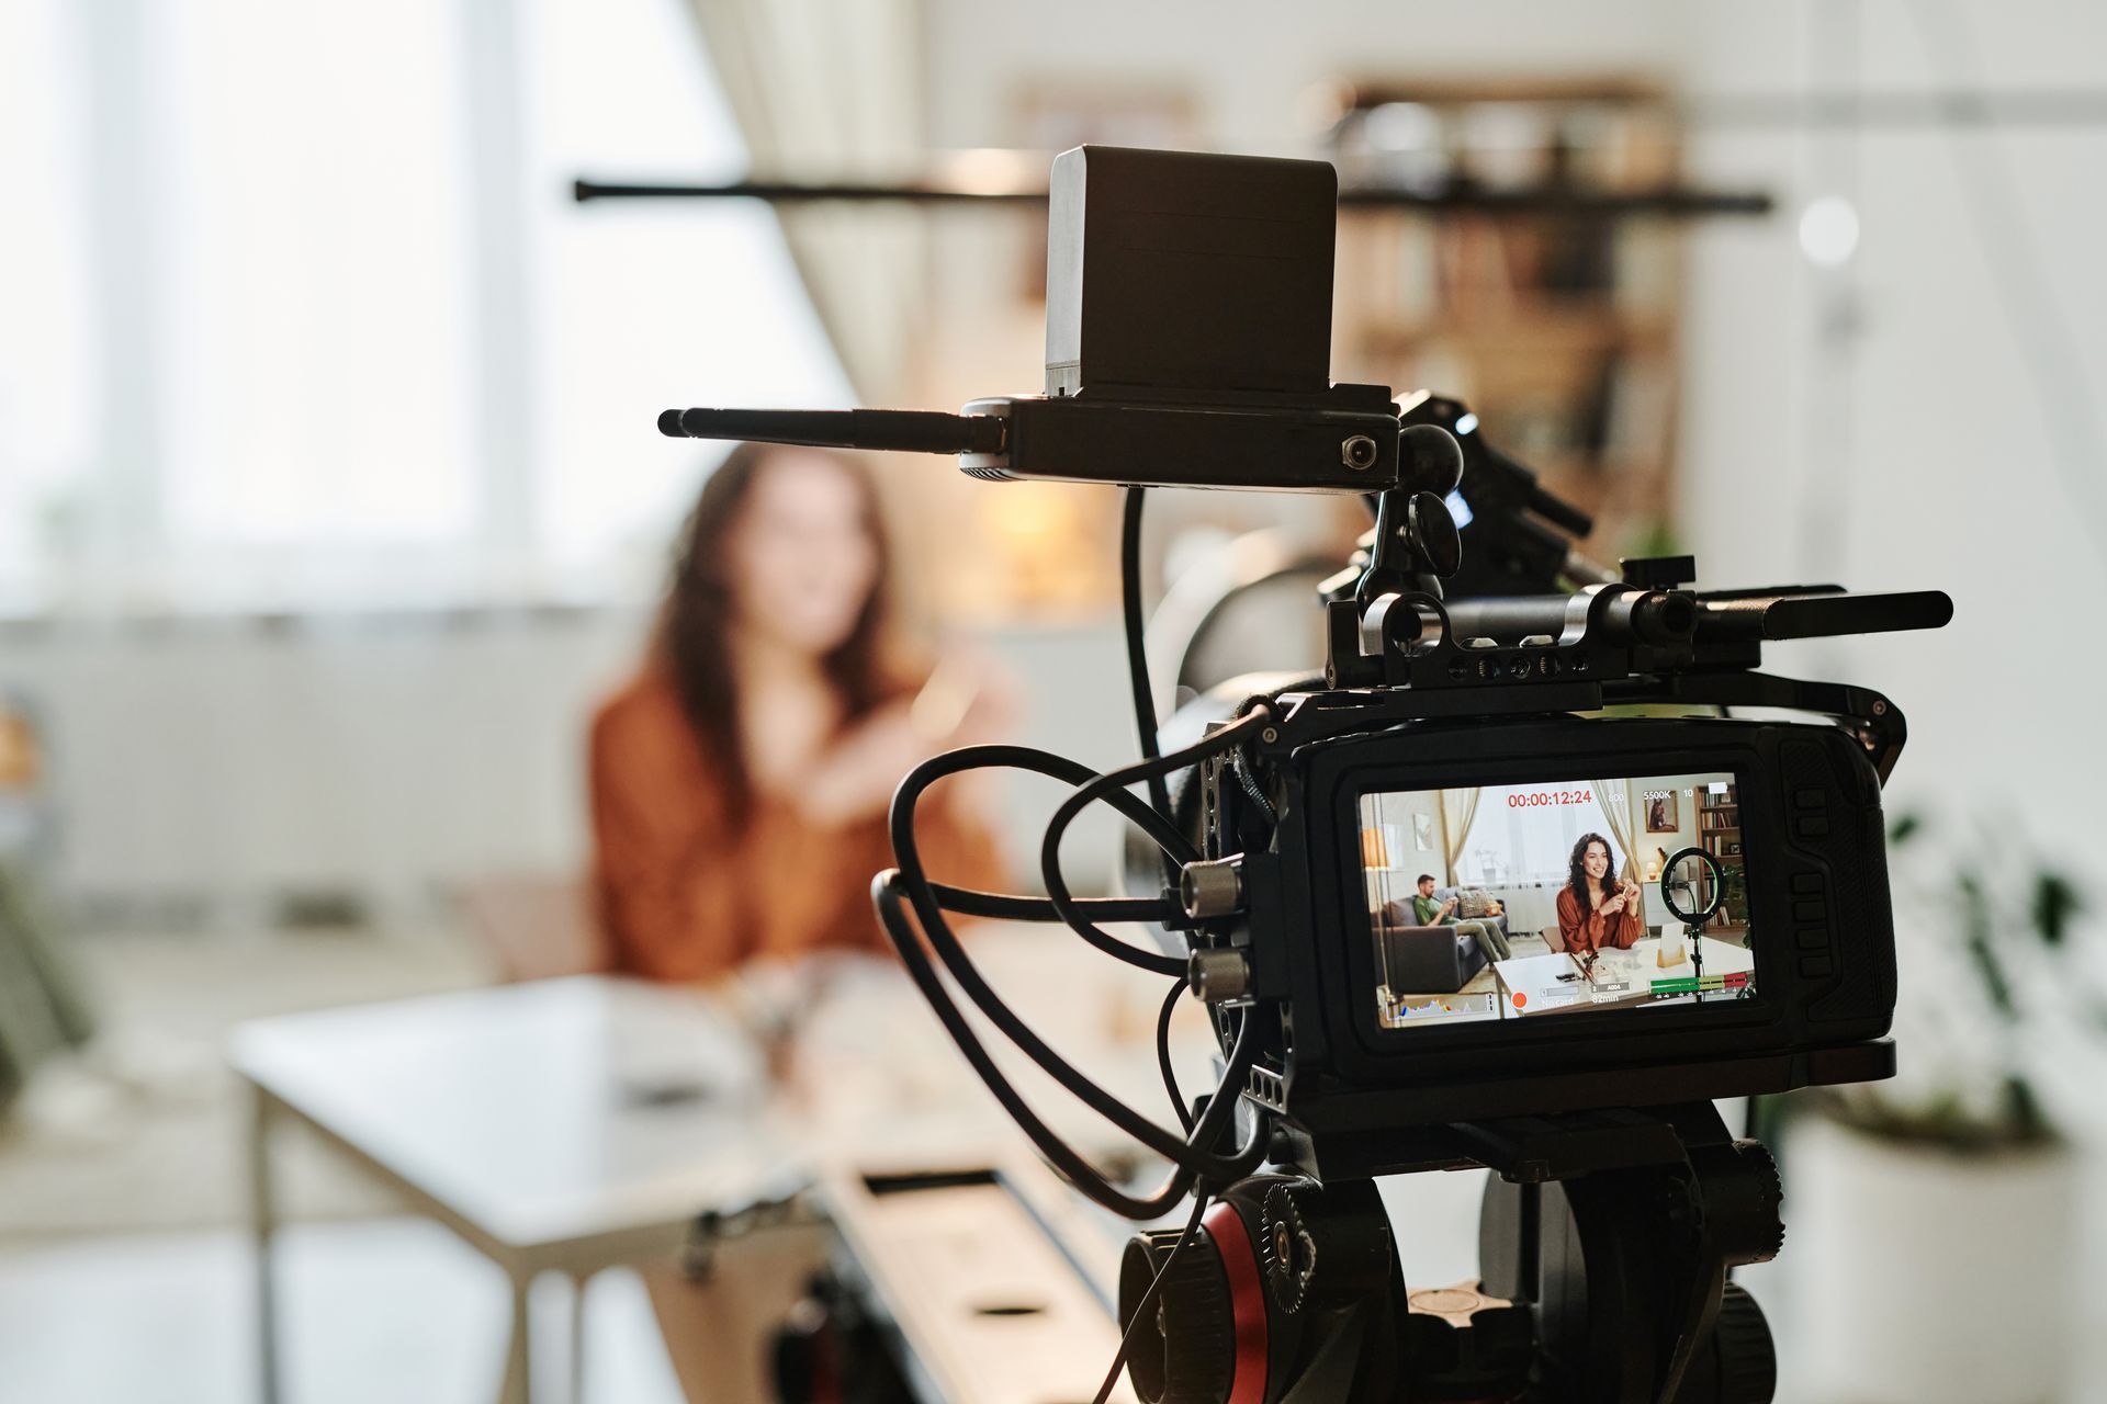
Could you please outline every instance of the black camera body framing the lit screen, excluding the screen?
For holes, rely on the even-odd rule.
[[[1844,730],[1576,716],[1370,726],[1323,707],[1304,720],[1292,697],[1281,701],[1289,711],[1279,739],[1260,741],[1245,762],[1277,825],[1239,783],[1237,762],[1214,760],[1199,779],[1205,848],[1212,859],[1241,855],[1243,909],[1199,922],[1188,941],[1249,962],[1243,1000],[1268,1036],[1245,1097],[1306,1139],[1296,1156],[1306,1172],[1338,1179],[1452,1160],[1454,1137],[1439,1128],[1456,1122],[1892,1071],[1892,1044],[1882,1042],[1894,1015],[1894,922],[1879,777]],[[1532,1015],[1500,989],[1494,1017],[1384,1025],[1384,932],[1374,928],[1361,842],[1370,798],[1521,785],[1584,796],[1606,779],[1709,775],[1732,777],[1738,796],[1740,939],[1753,970],[1721,972],[1717,989],[1660,981],[1675,994],[1652,1008],[1601,1000]],[[1431,928],[1393,935],[1443,943]],[[1228,1012],[1218,1019],[1226,1036]]]

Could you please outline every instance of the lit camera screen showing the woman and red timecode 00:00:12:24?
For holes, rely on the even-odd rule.
[[[1753,998],[1738,796],[1728,773],[1363,794],[1376,1023]]]

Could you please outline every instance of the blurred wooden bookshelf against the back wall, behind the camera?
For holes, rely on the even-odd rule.
[[[1679,183],[1669,91],[1637,78],[1340,88],[1348,183],[1553,196],[1530,210],[1363,210],[1340,223],[1340,379],[1464,400],[1485,436],[1597,518],[1591,554],[1673,520],[1683,250],[1673,219],[1555,208]]]

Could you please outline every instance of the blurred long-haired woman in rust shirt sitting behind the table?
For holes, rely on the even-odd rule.
[[[986,686],[908,661],[868,474],[740,446],[702,488],[643,674],[592,724],[594,897],[613,966],[712,979],[761,956],[881,949],[885,806],[927,756],[984,739]],[[995,842],[944,781],[931,874],[999,888]]]

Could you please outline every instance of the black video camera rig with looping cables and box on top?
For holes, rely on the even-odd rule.
[[[1140,764],[1096,773],[1020,745],[929,760],[893,798],[898,867],[872,884],[938,1019],[1075,1189],[1138,1221],[1193,1196],[1182,1229],[1129,1244],[1125,1341],[1100,1402],[1121,1364],[1146,1404],[1768,1400],[1768,1328],[1726,1278],[1778,1250],[1780,1187],[1761,1145],[1728,1135],[1711,1099],[1890,1076],[1879,785],[1905,722],[1869,688],[1759,671],[1761,646],[1941,627],[1951,600],[1835,585],[1698,591],[1690,558],[1591,566],[1572,549],[1589,518],[1492,448],[1462,404],[1330,381],[1336,196],[1325,162],[1064,152],[1043,396],[973,400],[961,415],[687,408],[666,410],[659,429],[954,453],[984,480],[1127,488]],[[1167,754],[1140,638],[1148,486],[1355,493],[1374,509],[1355,560],[1321,589],[1321,676],[1237,680],[1199,703],[1203,735]],[[1471,507],[1462,528],[1456,493]],[[917,798],[976,768],[1072,787],[1041,844],[1043,899],[954,888],[923,869]],[[1643,1015],[1576,1006],[1384,1027],[1359,802],[1591,775],[1734,779],[1745,903],[1764,932],[1749,945],[1753,970]],[[1062,834],[1091,804],[1157,844],[1159,892],[1068,890]],[[946,914],[1062,922],[1174,979],[1159,1061],[1180,1126],[1047,1046],[980,977]],[[1102,926],[1119,922],[1155,924],[1159,939],[1144,947]],[[1700,930],[1690,926],[1698,947]],[[1005,1080],[954,987],[1165,1158],[1161,1187],[1115,1183],[1062,1141]],[[1165,1040],[1188,994],[1205,1000],[1224,1055],[1220,1084],[1190,1105]],[[1458,1166],[1496,1172],[1481,1278],[1412,1292],[1370,1181]]]

